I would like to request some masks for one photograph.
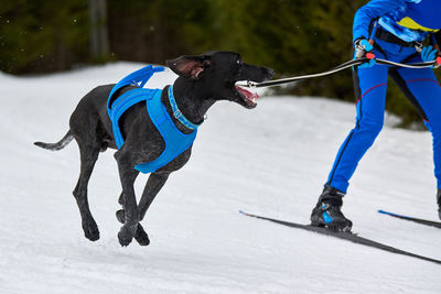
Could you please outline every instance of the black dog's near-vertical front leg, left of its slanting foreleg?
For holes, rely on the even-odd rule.
[[[115,153],[115,159],[118,162],[125,204],[125,225],[118,232],[118,239],[121,246],[128,246],[137,232],[140,219],[133,188],[139,172],[129,164],[130,160],[122,152]]]

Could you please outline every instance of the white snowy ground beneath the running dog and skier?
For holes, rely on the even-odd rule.
[[[190,163],[148,213],[147,248],[118,243],[120,184],[112,152],[103,153],[89,185],[101,239],[86,240],[72,196],[76,143],[50,152],[32,142],[61,139],[83,95],[140,66],[0,74],[0,293],[440,293],[440,265],[238,214],[308,222],[354,121],[353,105],[319,98],[215,105]],[[376,213],[437,220],[431,156],[429,133],[385,127],[345,198],[354,231],[441,259],[438,229]]]

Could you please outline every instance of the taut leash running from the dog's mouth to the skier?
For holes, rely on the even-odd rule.
[[[237,85],[243,86],[243,87],[248,87],[248,88],[273,87],[273,86],[279,86],[279,85],[283,85],[283,84],[303,80],[303,79],[329,76],[329,75],[345,70],[349,67],[361,65],[365,62],[368,62],[369,59],[372,59],[372,58],[363,57],[363,58],[352,59],[352,61],[348,61],[344,64],[341,64],[341,65],[334,67],[331,70],[312,74],[312,75],[281,78],[281,79],[268,80],[268,81],[263,81],[263,83],[256,83],[256,81],[248,80],[247,84],[237,84]],[[437,61],[426,62],[426,63],[402,64],[402,63],[395,63],[395,62],[380,59],[380,58],[375,58],[375,59],[376,59],[377,64],[380,64],[380,65],[389,65],[389,66],[406,67],[406,68],[427,68],[427,67],[432,67],[437,64]]]

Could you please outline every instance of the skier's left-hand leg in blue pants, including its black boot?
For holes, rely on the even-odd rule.
[[[351,231],[352,221],[341,211],[343,196],[355,168],[374,143],[383,128],[387,67],[374,66],[354,70],[354,87],[357,99],[355,128],[340,148],[322,195],[311,214],[311,225],[337,231]]]

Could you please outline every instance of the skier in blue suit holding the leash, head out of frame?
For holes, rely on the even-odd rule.
[[[441,63],[438,46],[441,45],[440,15],[440,0],[372,0],[354,18],[354,58],[373,53],[376,57],[399,63]],[[429,36],[431,45],[422,46]],[[351,231],[352,221],[341,211],[343,196],[359,160],[381,130],[388,75],[415,105],[432,133],[441,218],[441,87],[431,68],[394,68],[376,65],[372,58],[353,70],[356,124],[340,148],[323,193],[312,210],[313,226]]]

